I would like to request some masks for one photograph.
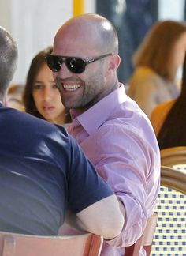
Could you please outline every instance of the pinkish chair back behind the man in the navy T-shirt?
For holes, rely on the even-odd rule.
[[[1,256],[99,256],[103,239],[86,233],[72,236],[20,235],[0,232]]]

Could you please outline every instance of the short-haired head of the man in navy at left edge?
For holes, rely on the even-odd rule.
[[[0,26],[0,96],[5,96],[9,82],[17,67],[17,43],[5,28]],[[1,99],[2,100],[2,99]]]

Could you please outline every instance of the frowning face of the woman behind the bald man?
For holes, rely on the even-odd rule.
[[[65,107],[61,103],[52,71],[45,63],[35,77],[32,94],[35,106],[44,119],[58,124],[65,122]]]

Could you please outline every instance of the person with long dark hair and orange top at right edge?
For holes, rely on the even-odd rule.
[[[171,100],[154,108],[151,123],[160,149],[186,145],[186,55],[184,57],[181,92]]]

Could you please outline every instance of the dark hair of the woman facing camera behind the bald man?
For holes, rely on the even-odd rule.
[[[37,55],[32,59],[31,66],[28,70],[28,75],[26,79],[26,84],[23,93],[23,102],[25,107],[25,112],[35,115],[40,119],[44,119],[43,115],[40,115],[37,107],[35,106],[35,101],[33,98],[33,85],[35,82],[35,77],[38,75],[39,70],[46,63],[46,56],[50,55],[52,52],[52,47],[47,47],[43,51],[39,51]],[[65,123],[71,122],[71,118],[69,115],[69,110],[65,108]]]

